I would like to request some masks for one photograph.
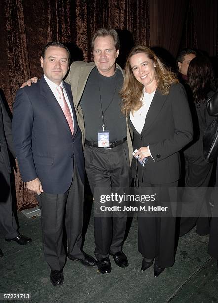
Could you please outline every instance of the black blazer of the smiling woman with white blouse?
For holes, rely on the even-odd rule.
[[[179,151],[193,138],[192,118],[183,85],[172,84],[168,95],[156,90],[141,134],[130,118],[129,125],[134,135],[133,149],[149,145],[154,158],[148,157],[145,167],[133,158],[132,176],[151,184],[177,181],[180,175]]]

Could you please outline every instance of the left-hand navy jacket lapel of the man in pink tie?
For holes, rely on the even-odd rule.
[[[62,125],[63,128],[65,128],[72,135],[68,122],[65,118],[65,115],[60,105],[58,104],[58,101],[56,100],[54,94],[52,93],[52,90],[50,89],[49,85],[45,81],[44,77],[40,79],[40,93],[45,97],[45,100],[47,101],[47,105],[51,108],[51,110],[53,110],[54,114],[57,117],[58,123],[60,123],[60,126]]]

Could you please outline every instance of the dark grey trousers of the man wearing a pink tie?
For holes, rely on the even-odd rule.
[[[64,176],[63,176],[64,178]],[[41,225],[45,260],[51,270],[64,267],[66,255],[63,244],[64,225],[67,233],[68,255],[80,259],[83,226],[84,185],[74,162],[73,180],[64,194],[37,195],[41,208]]]

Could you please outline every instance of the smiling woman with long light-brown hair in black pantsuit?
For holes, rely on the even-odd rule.
[[[121,91],[123,112],[133,130],[133,149],[148,162],[133,158],[136,187],[155,188],[158,205],[169,202],[169,188],[176,188],[180,175],[179,151],[192,140],[192,119],[184,87],[155,53],[134,47],[126,63]],[[145,191],[143,190],[145,193]],[[167,203],[169,206],[169,203]],[[154,263],[154,276],[174,263],[175,216],[138,215],[138,250],[144,271]]]

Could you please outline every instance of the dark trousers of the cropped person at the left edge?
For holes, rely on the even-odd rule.
[[[6,239],[18,235],[18,226],[12,210],[10,174],[0,152],[0,229]]]

